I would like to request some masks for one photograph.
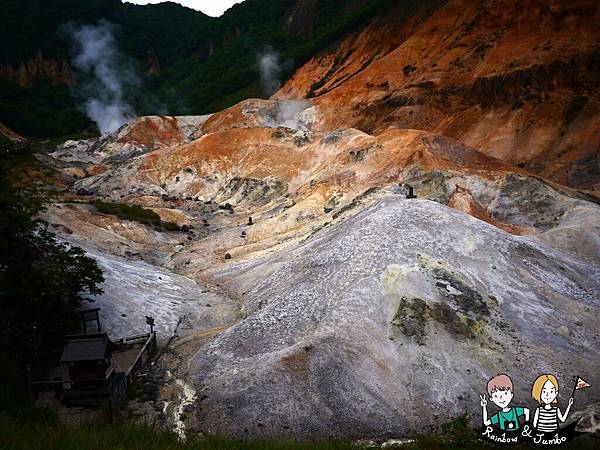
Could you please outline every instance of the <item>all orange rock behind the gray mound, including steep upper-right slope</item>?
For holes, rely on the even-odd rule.
[[[513,234],[555,227],[600,187],[598,6],[430,3],[392,6],[272,99],[142,117],[99,150],[73,143],[56,157],[95,152],[82,153],[96,167],[76,182],[85,195],[184,208],[210,236],[192,244],[207,255],[198,270],[411,187]]]

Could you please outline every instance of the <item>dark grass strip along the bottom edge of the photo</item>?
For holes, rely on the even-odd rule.
[[[344,441],[293,442],[276,440],[232,440],[222,437],[201,439],[191,436],[182,441],[172,432],[155,427],[101,419],[83,425],[60,424],[46,410],[22,403],[12,411],[0,412],[1,450],[356,450]],[[596,449],[598,441],[580,438],[565,448]],[[442,427],[439,433],[417,436],[401,449],[492,449],[477,439],[467,416]],[[528,446],[513,447],[526,449]]]

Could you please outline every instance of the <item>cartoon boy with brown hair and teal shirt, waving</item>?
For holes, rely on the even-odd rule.
[[[512,380],[508,375],[501,373],[493,377],[488,381],[487,391],[490,400],[500,408],[500,411],[488,419],[487,400],[485,395],[479,396],[481,398],[481,407],[483,408],[483,424],[486,427],[494,424],[501,430],[512,431],[519,429],[519,417],[524,416],[525,421],[529,420],[528,408],[508,406],[514,397]]]

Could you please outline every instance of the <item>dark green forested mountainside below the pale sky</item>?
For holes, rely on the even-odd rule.
[[[0,64],[17,67],[41,52],[69,60],[64,25],[114,25],[120,50],[135,61],[143,85],[126,92],[136,113],[202,114],[243,98],[264,97],[258,57],[267,46],[279,55],[282,81],[349,30],[381,13],[391,0],[316,0],[301,12],[308,30],[290,28],[297,0],[246,0],[220,18],[174,3],[137,6],[120,0],[8,0],[0,9]],[[310,2],[307,2],[310,5]],[[32,12],[35,12],[32,14]],[[145,74],[149,58],[160,75]],[[83,131],[90,122],[69,89],[36,80],[33,88],[0,84],[0,122],[29,136]]]

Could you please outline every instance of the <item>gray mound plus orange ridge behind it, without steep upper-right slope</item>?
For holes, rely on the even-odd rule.
[[[182,230],[72,204],[47,213],[65,238],[212,295],[210,309],[206,294],[166,309],[185,326],[149,384],[156,420],[181,433],[402,436],[476,413],[500,370],[523,398],[532,371],[595,382],[597,199],[431,132],[315,131],[319,120],[311,102],[248,100],[142,118],[49,160],[80,200],[140,204]],[[111,311],[161,303],[127,283],[140,292],[107,292],[124,304],[106,310],[116,329]]]

